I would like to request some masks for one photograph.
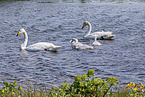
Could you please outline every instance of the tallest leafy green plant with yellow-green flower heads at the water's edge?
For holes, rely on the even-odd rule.
[[[51,95],[56,96],[61,93],[62,96],[72,97],[104,97],[113,85],[116,86],[119,83],[118,79],[114,77],[108,77],[106,80],[95,79],[94,73],[95,71],[90,69],[87,74],[76,76],[70,87],[67,83],[63,83],[61,88],[53,89]]]

